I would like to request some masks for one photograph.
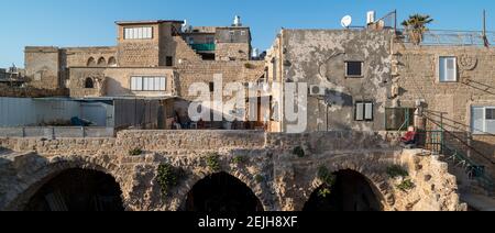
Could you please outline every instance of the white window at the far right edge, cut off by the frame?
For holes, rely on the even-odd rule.
[[[495,107],[473,107],[471,131],[473,134],[495,134]]]

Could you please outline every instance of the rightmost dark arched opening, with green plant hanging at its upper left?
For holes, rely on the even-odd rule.
[[[330,195],[322,196],[317,189],[304,211],[382,211],[381,199],[376,197],[374,186],[366,177],[353,170],[341,170],[334,174],[336,184]]]

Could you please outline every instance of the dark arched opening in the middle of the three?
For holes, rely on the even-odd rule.
[[[261,201],[245,184],[219,173],[197,182],[187,195],[185,211],[254,212],[263,211]]]

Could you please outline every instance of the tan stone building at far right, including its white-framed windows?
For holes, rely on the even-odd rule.
[[[485,166],[493,175],[495,49],[397,41],[393,55],[395,107],[421,109],[418,127],[444,131],[443,135],[428,137],[441,136],[437,140]],[[431,143],[435,138],[427,140]]]

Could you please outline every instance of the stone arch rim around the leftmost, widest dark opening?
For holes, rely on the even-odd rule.
[[[29,167],[20,170],[19,174],[22,174],[23,179],[19,180],[16,187],[12,188],[12,192],[8,195],[8,197],[12,198],[6,200],[6,210],[23,210],[31,198],[34,197],[44,185],[62,173],[70,169],[94,170],[113,177],[122,191],[121,200],[123,209],[130,209],[128,208],[122,189],[125,180],[118,175],[119,167],[117,165],[96,157],[67,156],[51,158],[44,166],[35,170],[32,170]]]

